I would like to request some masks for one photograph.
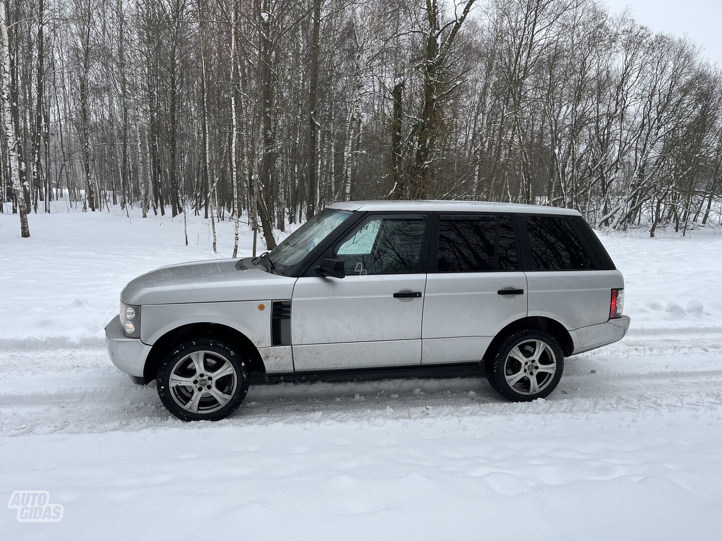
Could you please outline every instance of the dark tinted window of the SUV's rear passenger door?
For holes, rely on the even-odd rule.
[[[517,268],[510,216],[444,214],[439,220],[436,269],[442,273],[484,273]]]

